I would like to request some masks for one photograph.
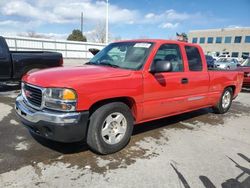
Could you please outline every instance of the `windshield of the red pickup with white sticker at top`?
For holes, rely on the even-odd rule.
[[[88,64],[139,70],[153,46],[150,42],[112,43],[97,53]]]

